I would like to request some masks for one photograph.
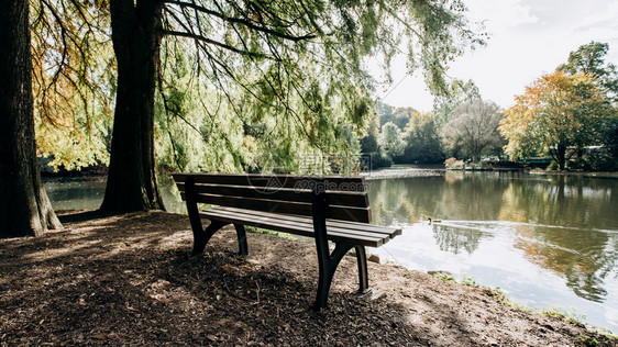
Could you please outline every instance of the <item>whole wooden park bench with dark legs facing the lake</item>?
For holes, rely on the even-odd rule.
[[[194,232],[194,254],[233,224],[241,255],[247,254],[245,225],[316,239],[319,283],[313,309],[327,306],[333,275],[342,257],[355,249],[360,292],[369,291],[365,246],[378,247],[400,228],[368,224],[371,211],[363,177],[236,174],[173,174]],[[197,203],[218,205],[198,211]],[[203,228],[201,219],[210,220]],[[332,253],[328,240],[335,244]]]

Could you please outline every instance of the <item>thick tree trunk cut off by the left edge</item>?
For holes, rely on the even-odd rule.
[[[29,2],[0,11],[0,237],[62,227],[41,183],[32,100]]]

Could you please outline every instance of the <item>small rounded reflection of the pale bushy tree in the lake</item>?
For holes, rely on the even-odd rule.
[[[433,225],[433,239],[442,251],[451,251],[460,254],[462,250],[473,254],[483,237],[489,236],[479,230],[461,228],[456,226],[448,226],[442,224]]]

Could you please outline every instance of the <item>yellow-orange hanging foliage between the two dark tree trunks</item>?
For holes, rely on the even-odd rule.
[[[100,1],[31,8],[37,155],[55,169],[107,164],[115,92],[109,13]]]

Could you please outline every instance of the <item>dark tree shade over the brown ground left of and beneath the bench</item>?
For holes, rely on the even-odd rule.
[[[352,292],[333,291],[330,306],[312,312],[314,273],[247,261],[235,254],[235,237],[227,237],[232,231],[217,235],[203,256],[190,256],[186,220],[157,212],[122,217],[80,213],[64,216],[65,231],[0,244],[4,332],[0,340],[130,345],[415,340],[402,307]],[[177,235],[179,230],[185,230],[184,236]]]

